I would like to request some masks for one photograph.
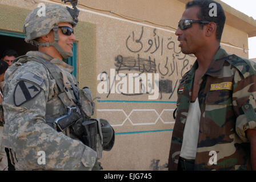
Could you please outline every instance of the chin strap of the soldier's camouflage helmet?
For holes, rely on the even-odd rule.
[[[58,44],[59,36],[58,36],[58,25],[54,24],[53,26],[53,32],[54,32],[54,42],[37,42],[36,40],[32,40],[31,44],[35,46],[41,46],[41,47],[49,47],[53,46],[57,51],[61,54],[63,58],[69,58],[73,56],[73,52],[66,52],[64,51],[61,46]]]

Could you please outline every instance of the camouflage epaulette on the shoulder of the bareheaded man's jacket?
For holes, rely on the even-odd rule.
[[[244,78],[251,75],[256,75],[256,63],[254,61],[239,57],[234,54],[228,56],[226,60],[235,68],[237,68]]]

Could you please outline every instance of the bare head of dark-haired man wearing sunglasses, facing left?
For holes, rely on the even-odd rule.
[[[197,55],[206,48],[219,46],[225,21],[224,10],[218,2],[212,0],[187,2],[186,10],[175,32],[181,51],[185,54]]]

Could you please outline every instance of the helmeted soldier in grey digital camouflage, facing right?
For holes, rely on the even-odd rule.
[[[46,5],[46,16],[38,16],[39,8],[31,11],[23,31],[25,41],[37,45],[39,51],[19,57],[5,74],[3,110],[6,124],[2,144],[10,148],[18,170],[99,169],[97,159],[101,158],[102,135],[93,150],[79,138],[83,118],[62,132],[56,131],[56,125],[53,127],[54,119],[67,114],[66,106],[79,105],[82,106],[78,110],[80,114],[87,117],[93,114],[89,89],[78,88],[77,80],[70,74],[73,67],[62,61],[73,55],[73,27],[78,22],[79,12],[73,7]],[[100,134],[104,137],[103,128],[97,136]],[[113,133],[110,135],[113,144]]]

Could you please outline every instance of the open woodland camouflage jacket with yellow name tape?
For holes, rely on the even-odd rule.
[[[169,169],[176,170],[198,62],[183,76],[178,87],[175,126],[171,139]],[[195,170],[250,169],[247,129],[256,129],[256,64],[219,48],[201,78],[198,93],[201,118]],[[217,164],[210,164],[210,151]]]

